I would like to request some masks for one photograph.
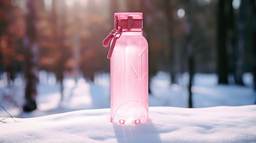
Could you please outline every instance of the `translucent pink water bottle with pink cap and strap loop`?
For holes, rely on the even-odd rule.
[[[111,41],[111,122],[133,124],[148,121],[148,42],[142,35],[142,13],[115,13]]]

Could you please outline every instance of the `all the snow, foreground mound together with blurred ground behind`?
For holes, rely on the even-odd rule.
[[[170,86],[168,74],[159,72],[150,83],[149,122],[135,125],[110,123],[109,74],[97,74],[94,82],[65,77],[63,101],[54,75],[39,75],[38,109],[31,113],[14,106],[22,103],[22,78],[12,90],[0,87],[8,99],[0,97],[0,105],[16,121],[0,110],[0,143],[256,143],[256,92],[249,73],[246,86],[218,85],[217,75],[196,74],[195,108],[187,108],[188,74]]]

